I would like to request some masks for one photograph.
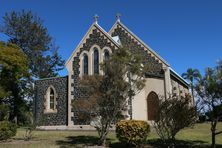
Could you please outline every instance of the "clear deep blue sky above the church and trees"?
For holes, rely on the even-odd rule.
[[[64,60],[92,24],[94,14],[108,31],[117,12],[122,14],[121,22],[179,74],[189,67],[203,72],[222,59],[221,0],[0,0],[0,25],[6,12],[22,9],[44,20]],[[5,39],[0,34],[0,40]]]

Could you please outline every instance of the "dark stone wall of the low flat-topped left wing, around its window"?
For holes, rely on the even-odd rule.
[[[44,113],[45,94],[49,86],[55,88],[55,113]],[[37,80],[35,82],[34,120],[37,126],[67,125],[68,121],[68,77]]]

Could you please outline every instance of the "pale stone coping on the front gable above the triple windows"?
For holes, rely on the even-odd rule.
[[[115,45],[116,48],[119,48],[119,43],[117,43],[115,40],[113,40],[113,38],[97,23],[94,22],[88,29],[88,31],[86,32],[86,34],[84,35],[84,37],[82,38],[82,40],[79,42],[79,44],[77,45],[77,47],[75,48],[75,50],[73,50],[71,56],[68,58],[68,60],[66,61],[65,65],[67,66],[68,63],[70,62],[70,60],[72,59],[72,57],[74,57],[74,55],[77,53],[77,51],[81,48],[81,46],[83,46],[85,40],[89,37],[90,33],[92,32],[93,29],[98,29],[101,33],[104,34],[105,37],[107,37],[107,39],[109,39],[109,41]]]

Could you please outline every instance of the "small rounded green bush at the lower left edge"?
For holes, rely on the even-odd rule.
[[[7,140],[16,135],[17,127],[9,121],[0,122],[0,140]]]

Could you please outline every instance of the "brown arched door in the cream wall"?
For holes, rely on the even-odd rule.
[[[157,115],[157,109],[159,104],[158,95],[155,92],[150,92],[147,97],[147,111],[148,111],[148,120],[155,120]]]

